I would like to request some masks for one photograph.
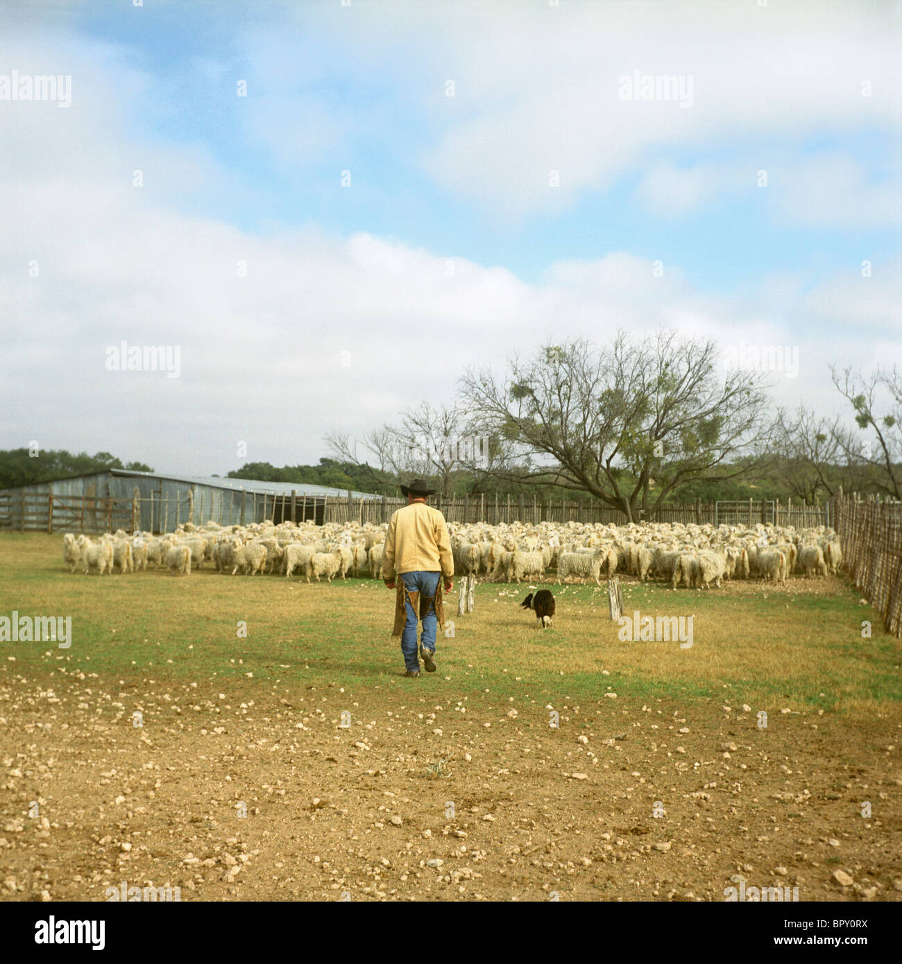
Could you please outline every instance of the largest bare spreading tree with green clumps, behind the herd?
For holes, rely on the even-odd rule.
[[[600,351],[585,339],[546,344],[504,378],[470,369],[460,396],[508,443],[495,477],[587,492],[633,521],[678,485],[760,465],[761,376],[736,370],[721,382],[716,362],[712,341],[621,333]]]

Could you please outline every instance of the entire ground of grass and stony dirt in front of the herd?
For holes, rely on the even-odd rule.
[[[902,897],[900,644],[841,578],[626,581],[688,649],[621,642],[594,585],[552,585],[543,632],[480,584],[408,680],[381,582],[69,575],[61,543],[0,537],[0,616],[72,618],[67,650],[0,644],[6,897]]]

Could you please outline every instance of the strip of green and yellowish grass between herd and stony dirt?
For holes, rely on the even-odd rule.
[[[0,615],[14,609],[70,615],[73,641],[68,650],[3,642],[0,653],[14,656],[20,672],[39,676],[62,663],[69,672],[139,685],[144,678],[244,680],[253,673],[246,679],[251,688],[279,680],[348,692],[409,691],[390,636],[394,593],[381,582],[308,585],[278,576],[220,576],[209,566],[186,578],[69,575],[61,537],[4,534]],[[519,608],[526,585],[479,584],[475,611],[460,618],[453,593],[446,616],[455,637],[440,633],[439,672],[424,677],[419,692],[431,687],[437,698],[455,701],[514,696],[558,705],[613,691],[620,700],[746,702],[771,711],[882,712],[902,701],[899,641],[840,579],[791,579],[786,589],[725,583],[724,590],[698,592],[623,583],[628,615],[638,609],[693,616],[694,645],[687,650],[676,642],[618,640],[605,589],[543,584],[558,601],[555,628],[547,631]],[[873,638],[861,638],[862,619],[871,620]],[[238,636],[239,620],[247,623],[247,638]]]

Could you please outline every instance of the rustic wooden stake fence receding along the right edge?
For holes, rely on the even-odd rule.
[[[831,506],[843,568],[884,629],[902,637],[902,503],[834,495]]]

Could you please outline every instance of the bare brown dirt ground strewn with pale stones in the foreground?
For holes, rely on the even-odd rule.
[[[441,666],[353,694],[49,678],[0,669],[4,899],[902,899],[897,719],[464,700]]]

